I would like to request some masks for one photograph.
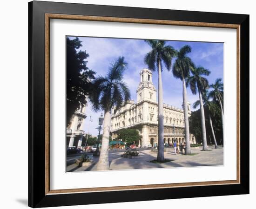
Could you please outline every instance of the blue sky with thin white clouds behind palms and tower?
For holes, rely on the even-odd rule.
[[[69,37],[74,39],[75,37]],[[131,99],[136,102],[136,89],[140,82],[140,71],[143,68],[148,68],[144,63],[144,57],[150,51],[150,46],[141,39],[116,39],[116,38],[94,38],[94,37],[78,37],[82,42],[82,46],[78,51],[82,50],[89,54],[87,66],[96,72],[96,77],[104,76],[110,63],[119,56],[124,56],[128,63],[127,70],[124,73],[124,81],[128,85],[131,92]],[[211,73],[207,77],[209,84],[215,82],[216,78],[223,80],[223,43],[211,42],[191,42],[191,41],[168,41],[168,45],[179,50],[184,45],[189,45],[192,51],[188,56],[193,60],[196,66],[202,66],[208,69]],[[174,63],[175,59],[172,60]],[[153,72],[152,81],[157,89],[157,72]],[[163,83],[163,100],[165,104],[169,104],[178,108],[182,108],[182,81],[174,78],[171,71],[168,72],[165,68],[162,72]],[[192,105],[199,99],[198,94],[193,95],[191,90],[187,88],[187,100]],[[102,112],[103,113],[103,112]],[[91,104],[88,103],[86,110],[87,118],[85,119],[82,129],[93,136],[98,135],[95,129],[98,126],[98,118],[100,112],[94,112],[91,109]],[[92,117],[93,122],[89,124],[89,117]],[[88,131],[89,130],[89,131]]]

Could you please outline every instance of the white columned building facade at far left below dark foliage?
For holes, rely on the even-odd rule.
[[[85,131],[82,130],[84,120],[87,117],[85,114],[87,105],[80,106],[79,110],[76,110],[67,125],[67,146],[68,147],[81,147],[82,139],[85,135]]]

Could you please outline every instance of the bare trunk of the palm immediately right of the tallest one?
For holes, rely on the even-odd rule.
[[[183,85],[183,111],[184,111],[184,121],[185,121],[185,138],[186,138],[186,148],[185,154],[191,154],[190,150],[190,139],[189,139],[189,113],[188,113],[188,102],[187,102],[187,89],[185,78],[182,79]]]

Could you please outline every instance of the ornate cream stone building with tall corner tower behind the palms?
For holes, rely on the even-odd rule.
[[[137,89],[137,103],[133,100],[116,111],[112,108],[111,133],[112,139],[121,129],[135,128],[141,140],[139,146],[148,147],[158,142],[158,104],[156,88],[152,83],[152,72],[143,69],[140,72],[140,83]],[[164,104],[164,143],[171,144],[175,140],[185,142],[183,110]],[[191,115],[188,103],[189,116]],[[190,143],[195,144],[195,136],[190,134]]]

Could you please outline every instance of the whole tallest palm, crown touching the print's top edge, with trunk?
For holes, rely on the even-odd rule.
[[[172,46],[166,45],[163,40],[145,40],[152,50],[145,55],[144,62],[149,70],[158,72],[158,151],[157,161],[164,161],[163,153],[163,91],[162,91],[162,64],[171,69],[172,58],[176,51]]]

